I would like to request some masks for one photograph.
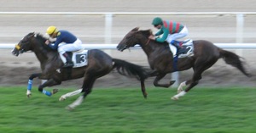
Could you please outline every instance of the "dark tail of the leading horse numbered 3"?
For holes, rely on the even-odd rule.
[[[137,64],[131,64],[125,60],[113,58],[113,69],[116,68],[120,75],[136,77],[137,80],[146,80],[148,78],[148,69]]]

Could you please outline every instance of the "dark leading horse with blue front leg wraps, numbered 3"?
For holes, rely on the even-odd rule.
[[[61,99],[65,99],[66,97],[74,94],[84,92],[84,95],[68,106],[69,108],[75,108],[82,103],[83,99],[90,93],[96,79],[103,75],[108,75],[108,73],[113,69],[117,69],[121,75],[136,77],[138,80],[141,80],[142,83],[147,78],[147,70],[142,66],[131,64],[121,59],[111,58],[107,53],[98,49],[88,50],[88,64],[86,66],[80,68],[61,68],[63,63],[58,52],[45,45],[45,41],[46,39],[43,36],[35,33],[29,33],[15,46],[12,51],[15,56],[18,56],[20,53],[31,50],[36,54],[41,64],[42,73],[32,74],[29,77],[26,93],[27,97],[31,96],[32,80],[36,77],[47,80],[44,84],[38,86],[38,91],[43,92],[47,96],[51,96],[56,91],[45,91],[44,87],[60,85],[61,81],[84,77],[82,89],[71,92],[70,95],[64,95],[61,97]],[[143,91],[143,95],[146,97],[145,91]]]

